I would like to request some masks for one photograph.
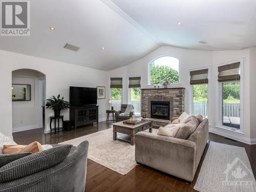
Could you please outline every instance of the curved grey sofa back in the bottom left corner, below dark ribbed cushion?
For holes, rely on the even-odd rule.
[[[68,156],[60,163],[40,172],[0,183],[1,192],[53,192],[75,191],[82,192],[86,185],[87,156],[89,142],[83,141],[77,147],[71,148]],[[55,148],[55,146],[54,146]],[[44,152],[44,151],[43,151]],[[40,153],[40,152],[39,152]],[[39,154],[36,153],[36,154]],[[34,155],[34,154],[32,154]],[[30,156],[27,156],[30,157]],[[27,158],[24,157],[24,158]],[[22,158],[23,159],[23,158]],[[18,159],[16,161],[22,161]],[[12,163],[12,162],[11,162]],[[47,161],[46,161],[47,163]],[[50,163],[50,162],[48,162]],[[18,163],[16,163],[18,164]],[[25,173],[31,172],[33,167],[27,166]],[[24,168],[23,168],[24,169]],[[16,173],[14,173],[15,175]],[[10,174],[11,175],[11,174]]]

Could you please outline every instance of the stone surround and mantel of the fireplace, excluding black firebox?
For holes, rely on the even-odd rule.
[[[170,118],[179,117],[184,112],[185,88],[141,89],[141,112],[151,118],[151,101],[169,101]]]

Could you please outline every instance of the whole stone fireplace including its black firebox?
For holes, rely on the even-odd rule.
[[[184,112],[184,89],[141,89],[141,112],[147,118],[170,120]]]

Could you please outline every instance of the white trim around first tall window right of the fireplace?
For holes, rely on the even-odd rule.
[[[188,70],[188,82],[190,82],[190,71],[208,69],[208,86],[207,86],[207,97],[208,97],[208,108],[207,108],[207,117],[209,122],[211,122],[211,66],[194,68]],[[194,102],[193,102],[193,85],[189,86],[189,114],[192,115],[194,112]],[[194,114],[197,115],[197,114]]]

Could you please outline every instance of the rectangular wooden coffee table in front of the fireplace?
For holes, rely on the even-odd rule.
[[[150,133],[152,133],[152,120],[145,120],[145,122],[138,123],[136,125],[124,124],[122,121],[117,123],[112,123],[113,125],[113,140],[123,140],[126,142],[131,142],[132,145],[135,144],[136,133],[141,131],[145,131],[149,129]],[[117,138],[117,133],[122,133],[131,136],[131,141],[126,139]]]

